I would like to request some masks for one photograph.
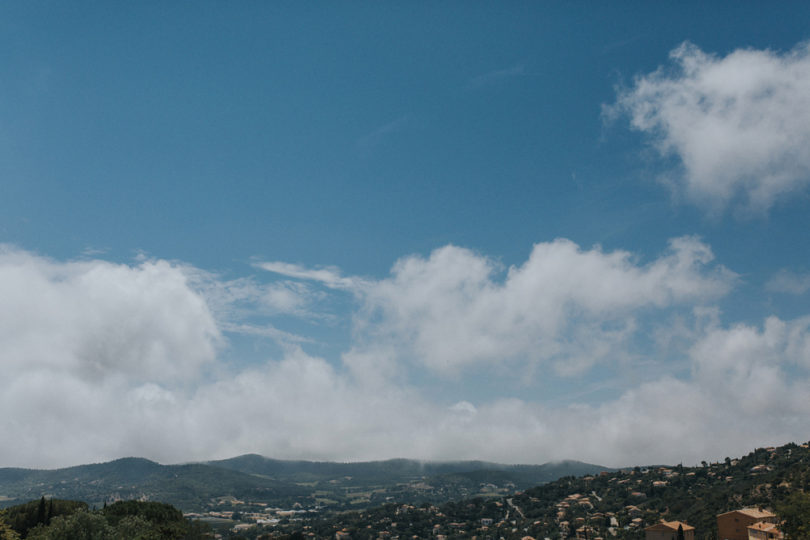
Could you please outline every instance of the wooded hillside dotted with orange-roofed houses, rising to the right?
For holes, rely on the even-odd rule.
[[[252,523],[236,524],[231,537],[778,540],[787,535],[777,506],[791,494],[805,496],[808,479],[808,445],[792,444],[695,467],[635,467],[566,477],[509,496],[441,505],[389,503],[337,515],[301,508],[269,522],[267,512],[243,514]]]

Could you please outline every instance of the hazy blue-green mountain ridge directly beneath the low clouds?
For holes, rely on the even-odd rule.
[[[402,458],[315,462],[243,454],[218,461],[162,465],[126,457],[60,469],[0,468],[0,507],[45,495],[99,506],[122,499],[163,501],[184,511],[211,509],[233,500],[357,508],[385,497],[412,502],[454,500],[477,493],[483,485],[493,493],[506,493],[561,476],[602,470],[608,469],[571,460],[557,465]],[[358,498],[357,492],[371,494]]]

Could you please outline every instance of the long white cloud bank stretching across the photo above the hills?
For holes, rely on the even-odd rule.
[[[305,269],[295,273],[311,281]],[[319,277],[332,290],[335,280]],[[212,275],[167,261],[60,262],[6,247],[0,430],[9,444],[0,463],[259,452],[621,466],[719,459],[806,437],[810,318],[723,327],[697,317],[684,352],[687,375],[664,372],[600,404],[515,399],[508,387],[500,397],[472,391],[446,402],[407,376],[410,369],[464,381],[470,369],[505,358],[538,363],[552,380],[615,356],[632,369],[641,323],[629,321],[700,311],[735,279],[691,237],[671,241],[649,262],[556,240],[505,270],[447,246],[364,281],[342,361],[287,341],[279,357],[235,366],[221,355],[228,325],[238,323],[233,305],[244,307],[250,291],[261,297],[268,287],[214,286]],[[512,380],[522,378],[518,370]]]

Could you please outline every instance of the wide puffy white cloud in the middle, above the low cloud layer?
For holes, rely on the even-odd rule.
[[[527,358],[578,373],[619,354],[638,310],[728,292],[735,275],[712,259],[691,237],[672,240],[648,264],[625,251],[556,240],[536,244],[500,281],[492,260],[447,246],[427,259],[402,259],[390,278],[369,285],[358,332],[372,343],[395,343],[439,372]]]

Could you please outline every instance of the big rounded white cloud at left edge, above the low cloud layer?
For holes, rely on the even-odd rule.
[[[0,362],[98,381],[182,381],[216,357],[219,329],[186,276],[165,261],[59,263],[0,250]]]

